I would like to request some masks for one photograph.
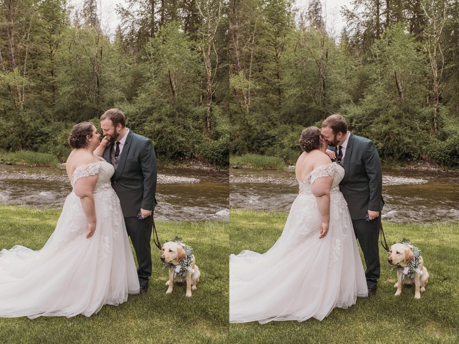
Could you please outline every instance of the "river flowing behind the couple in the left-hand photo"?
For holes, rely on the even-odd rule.
[[[65,167],[0,164],[0,203],[59,207],[72,191]],[[229,219],[227,171],[158,169],[155,219]]]

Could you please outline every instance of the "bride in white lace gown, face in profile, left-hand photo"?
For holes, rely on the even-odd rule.
[[[54,233],[39,251],[16,245],[0,252],[0,317],[67,317],[97,313],[139,293],[139,279],[113,166],[93,154],[100,134],[92,123],[73,127],[66,163],[73,191]]]

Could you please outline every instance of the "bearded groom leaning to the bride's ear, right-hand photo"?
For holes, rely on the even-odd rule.
[[[367,270],[368,296],[376,293],[379,279],[379,215],[382,199],[382,172],[374,143],[347,131],[341,115],[331,115],[322,122],[322,135],[328,142],[331,158],[344,168],[340,191],[347,202],[354,233],[359,240]],[[366,216],[368,219],[366,221]]]

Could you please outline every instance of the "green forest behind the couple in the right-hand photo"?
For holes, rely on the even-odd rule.
[[[320,0],[230,1],[230,153],[294,163],[339,113],[383,163],[459,165],[459,1],[354,0],[333,32]]]

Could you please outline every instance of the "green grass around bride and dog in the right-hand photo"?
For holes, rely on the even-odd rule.
[[[284,212],[231,210],[231,253],[265,252],[280,236],[286,219]],[[380,246],[376,296],[358,299],[346,310],[337,308],[322,321],[230,324],[228,342],[459,343],[459,224],[384,223],[384,232],[389,245],[405,237],[422,250],[430,277],[420,300],[414,299],[414,287],[394,296],[396,272]]]

